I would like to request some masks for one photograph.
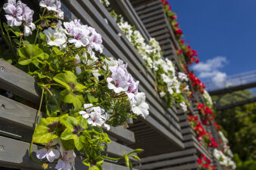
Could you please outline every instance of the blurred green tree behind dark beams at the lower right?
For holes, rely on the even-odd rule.
[[[219,97],[219,96],[218,96]],[[251,91],[234,91],[224,94],[219,104],[233,104],[254,97]],[[213,97],[217,99],[217,96]],[[235,153],[237,169],[256,169],[256,103],[220,110],[216,113],[217,122],[223,127],[229,146]]]

